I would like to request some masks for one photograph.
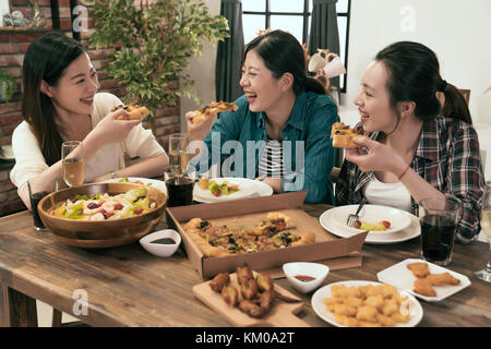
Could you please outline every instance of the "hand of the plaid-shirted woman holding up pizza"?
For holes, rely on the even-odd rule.
[[[367,137],[354,137],[359,148],[345,149],[345,158],[358,165],[359,169],[366,171],[388,171],[399,176],[406,168],[404,159],[391,147]],[[366,149],[368,149],[368,153]]]

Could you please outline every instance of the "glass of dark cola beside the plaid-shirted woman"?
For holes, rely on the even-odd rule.
[[[421,225],[421,258],[438,265],[452,261],[462,202],[454,195],[424,198],[419,203]]]

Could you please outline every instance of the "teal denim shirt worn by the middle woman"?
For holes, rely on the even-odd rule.
[[[223,112],[204,139],[206,147],[191,168],[205,172],[220,164],[220,177],[258,177],[260,159],[266,147],[266,116],[252,112],[246,96],[236,100],[235,112]],[[282,191],[308,190],[306,202],[334,204],[330,179],[335,152],[330,139],[337,107],[326,95],[302,93],[297,96],[290,118],[282,130],[285,176]],[[232,155],[232,156],[230,156]]]

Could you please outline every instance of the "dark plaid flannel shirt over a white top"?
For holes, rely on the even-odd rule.
[[[379,136],[379,132],[364,133],[361,123],[356,128],[372,140]],[[462,243],[476,240],[486,181],[474,127],[444,117],[424,122],[410,167],[440,192],[462,201],[464,209],[457,224],[456,240]],[[357,165],[344,161],[336,183],[336,205],[360,203],[363,186],[373,178],[373,171],[361,172]],[[416,216],[418,207],[411,197],[411,213]]]

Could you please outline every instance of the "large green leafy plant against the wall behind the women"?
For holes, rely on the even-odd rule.
[[[204,39],[228,36],[225,17],[199,0],[97,0],[91,13],[96,29],[88,44],[117,47],[107,72],[127,86],[127,99],[151,111],[182,95],[199,101],[183,69],[201,56]]]

